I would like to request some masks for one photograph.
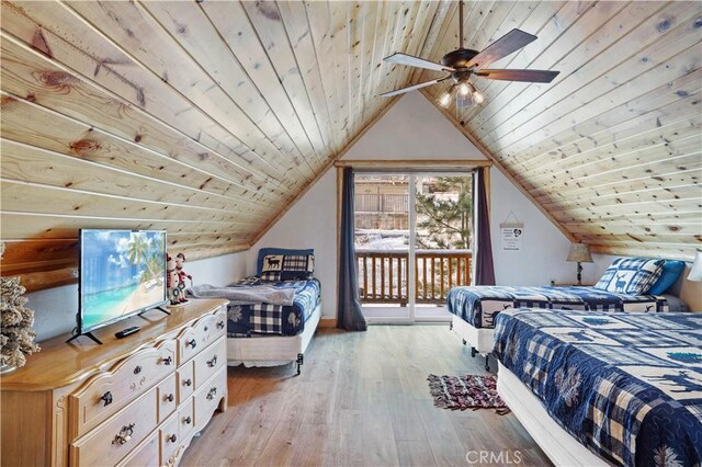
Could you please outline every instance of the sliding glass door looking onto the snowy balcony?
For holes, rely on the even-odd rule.
[[[471,283],[471,174],[355,174],[359,288],[369,322],[445,321]]]

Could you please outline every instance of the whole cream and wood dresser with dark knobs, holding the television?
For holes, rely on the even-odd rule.
[[[3,466],[177,465],[227,407],[226,300],[42,343],[0,379]],[[117,340],[114,332],[140,326]]]

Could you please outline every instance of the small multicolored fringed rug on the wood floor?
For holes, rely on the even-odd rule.
[[[503,415],[510,410],[497,394],[495,375],[437,376],[429,375],[429,390],[434,406],[442,409],[496,409]]]

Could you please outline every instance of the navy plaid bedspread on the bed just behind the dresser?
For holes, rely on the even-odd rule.
[[[263,281],[246,277],[228,287],[273,287],[295,288],[293,306],[251,304],[227,307],[227,337],[250,338],[252,334],[295,335],[305,329],[305,322],[319,304],[320,284],[316,278],[308,281]]]

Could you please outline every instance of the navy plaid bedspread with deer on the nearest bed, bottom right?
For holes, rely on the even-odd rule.
[[[495,354],[548,414],[625,466],[702,463],[702,314],[509,310]]]

